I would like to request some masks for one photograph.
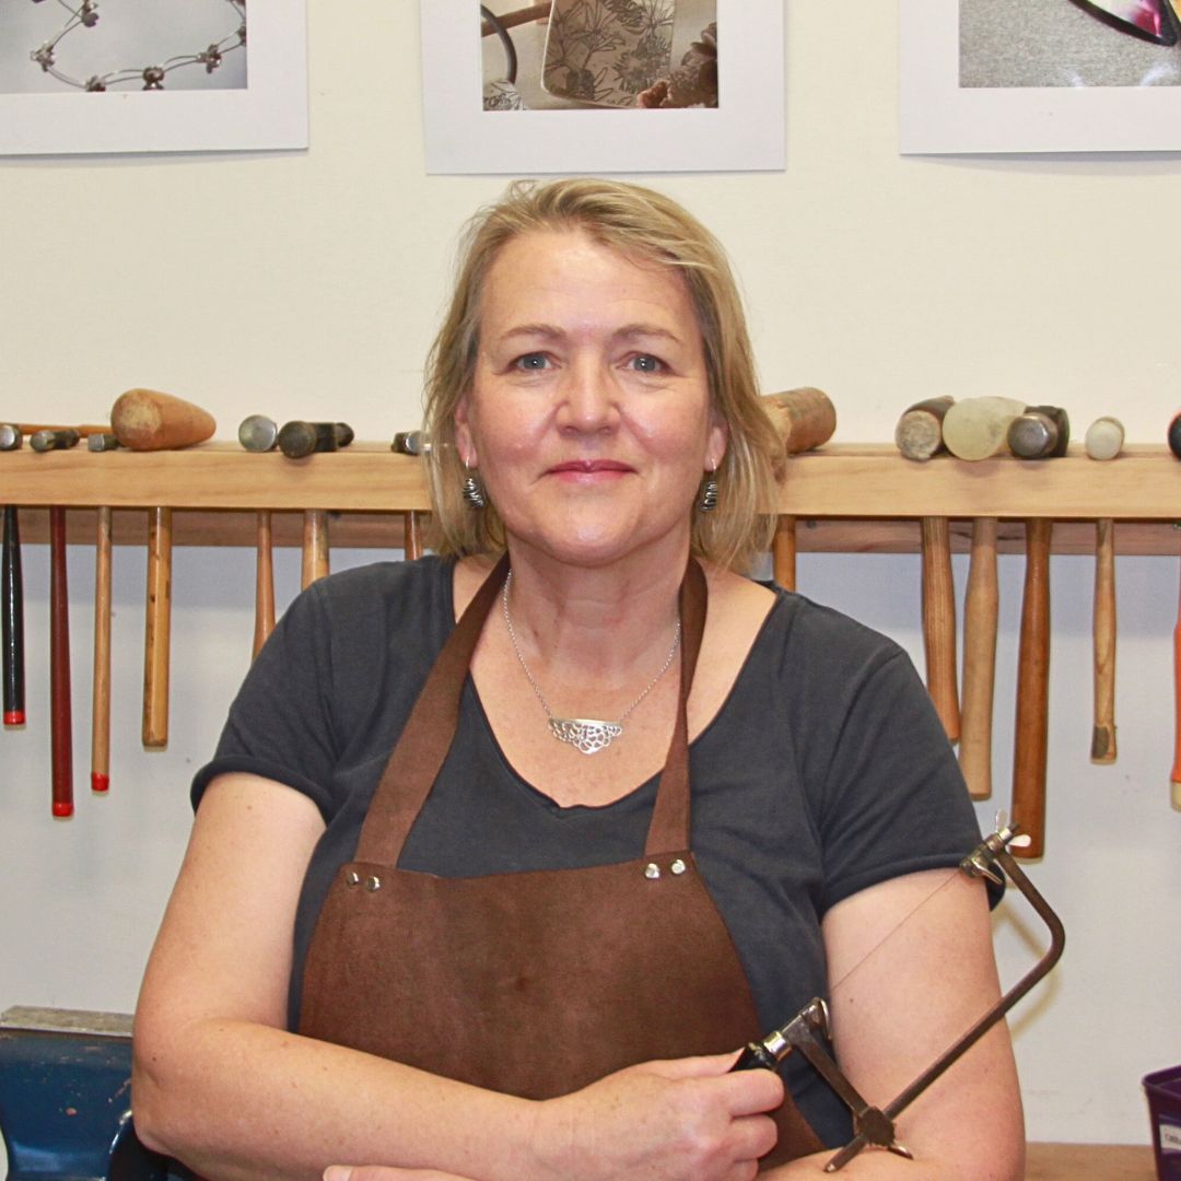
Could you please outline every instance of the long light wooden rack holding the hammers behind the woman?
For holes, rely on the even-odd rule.
[[[64,505],[68,539],[91,543],[93,509],[111,508],[116,543],[145,536],[144,509],[178,510],[174,543],[253,546],[254,514],[275,514],[275,543],[298,546],[305,510],[328,510],[334,547],[402,548],[406,514],[429,508],[417,458],[383,444],[288,459],[207,443],[182,451],[0,455],[0,503]],[[91,511],[87,511],[91,510]],[[1029,517],[1056,522],[1056,553],[1089,554],[1094,522],[1118,523],[1120,554],[1176,554],[1181,462],[1163,445],[1133,445],[1096,462],[1081,448],[1058,459],[965,463],[903,459],[888,444],[829,444],[789,461],[778,510],[795,518],[800,552],[905,553],[919,544],[921,517],[952,520],[966,549],[973,517],[996,517],[1001,552],[1020,552]],[[45,515],[21,513],[22,540],[44,541]]]

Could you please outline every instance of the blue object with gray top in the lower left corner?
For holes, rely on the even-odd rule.
[[[131,1018],[123,1014],[24,1007],[0,1014],[0,1133],[8,1181],[189,1175],[136,1137]]]

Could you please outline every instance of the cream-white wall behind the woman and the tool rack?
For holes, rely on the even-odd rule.
[[[148,385],[213,410],[227,439],[252,411],[347,419],[372,439],[416,424],[455,233],[504,183],[423,175],[416,7],[358,0],[342,17],[311,0],[306,154],[0,161],[4,413],[94,420]],[[900,409],[935,393],[1057,403],[1079,426],[1116,412],[1130,441],[1161,441],[1181,389],[1179,159],[903,159],[895,6],[791,0],[787,31],[787,170],[647,178],[730,247],[765,386],[827,390],[842,442],[889,439]],[[4,478],[0,464],[0,501]],[[47,562],[26,549],[31,720],[0,735],[0,1007],[131,1009],[184,847],[188,781],[249,653],[252,555],[178,550],[171,740],[142,751],[144,557],[120,548],[112,788],[91,798],[92,561],[71,554],[79,807],[54,822]],[[286,554],[285,599],[295,565]],[[1088,757],[1091,570],[1053,562],[1048,852],[1030,869],[1069,945],[1014,1025],[1032,1138],[1144,1141],[1140,1079],[1181,1062],[1177,563],[1118,563],[1120,761],[1107,768]],[[985,823],[1007,800],[1020,580],[1003,559]],[[921,666],[916,557],[805,556],[800,585]],[[1022,915],[1006,903],[998,919],[1010,979],[1036,931]]]

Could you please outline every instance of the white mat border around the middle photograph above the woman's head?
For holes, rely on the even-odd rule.
[[[783,0],[718,0],[718,107],[660,111],[484,111],[478,5],[419,2],[428,172],[784,167]]]

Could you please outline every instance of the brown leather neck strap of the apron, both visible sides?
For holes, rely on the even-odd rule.
[[[398,863],[410,829],[451,749],[471,658],[508,573],[509,557],[504,554],[443,645],[373,794],[357,843],[357,861]],[[677,722],[645,844],[648,856],[689,848],[687,702],[705,631],[706,600],[705,575],[697,560],[690,557],[679,594],[681,652]]]

